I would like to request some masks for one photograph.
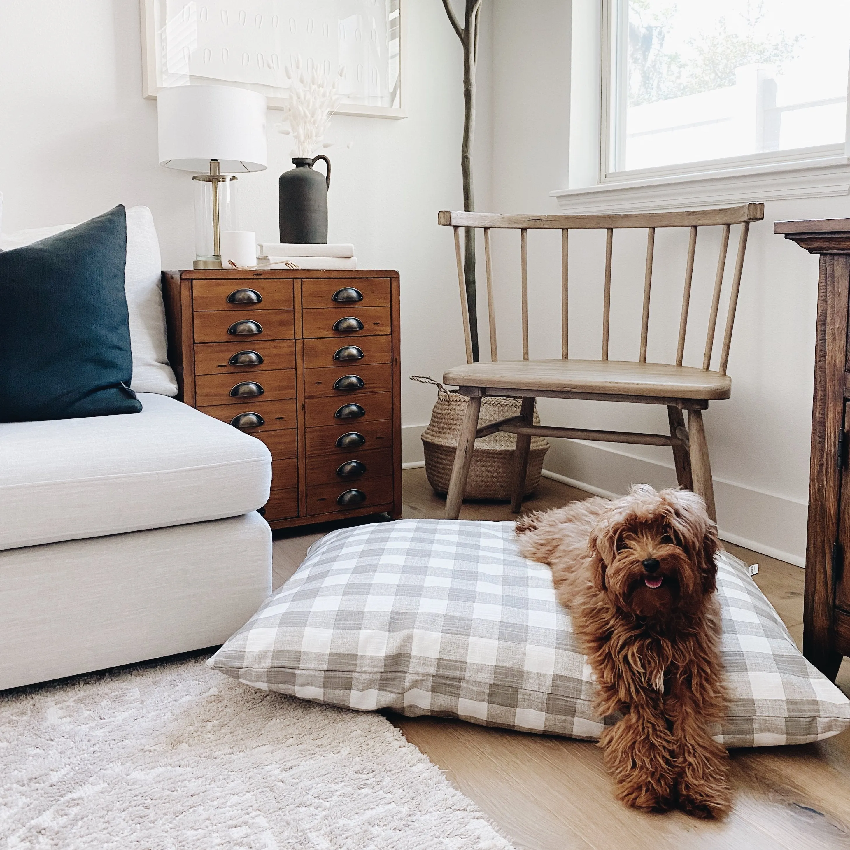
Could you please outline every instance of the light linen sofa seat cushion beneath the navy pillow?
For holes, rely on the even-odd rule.
[[[260,440],[164,395],[135,416],[0,423],[0,549],[234,517],[269,497]]]

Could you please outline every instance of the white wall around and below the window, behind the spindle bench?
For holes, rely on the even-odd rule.
[[[587,5],[587,4],[586,4]],[[493,209],[558,212],[568,186],[570,3],[495,0]],[[577,34],[576,34],[577,35]],[[575,42],[574,42],[575,44]],[[594,85],[588,78],[587,86]],[[581,81],[572,81],[573,91]],[[598,126],[598,125],[597,125]],[[581,130],[581,127],[576,127]],[[592,131],[596,132],[595,126]],[[581,135],[581,134],[580,134]],[[574,145],[573,150],[581,150]],[[595,163],[591,163],[591,171]],[[579,183],[581,184],[581,182]],[[742,200],[759,201],[758,197]],[[718,519],[725,539],[802,565],[806,537],[817,258],[773,234],[774,220],[850,216],[847,197],[774,201],[751,229],[728,372],[733,395],[706,411]],[[530,233],[531,356],[560,356],[559,234]],[[495,248],[500,356],[520,356],[519,239]],[[570,237],[570,354],[601,348],[604,234]],[[649,360],[675,357],[687,233],[659,231]],[[611,357],[638,356],[645,231],[615,238]],[[700,365],[719,235],[700,231],[686,365]],[[513,244],[513,243],[516,244]],[[734,246],[727,275],[731,278]],[[728,286],[728,283],[727,283]],[[725,298],[721,305],[725,316]],[[722,339],[722,327],[718,332]],[[720,342],[715,348],[715,365]],[[541,401],[544,422],[664,433],[663,407]],[[555,440],[547,469],[604,493],[638,481],[675,484],[669,450]]]

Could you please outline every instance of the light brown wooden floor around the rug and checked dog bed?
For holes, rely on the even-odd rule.
[[[442,518],[423,469],[404,473],[406,519]],[[563,505],[587,493],[542,479],[524,510]],[[462,519],[513,519],[505,503],[467,503]],[[328,529],[275,534],[275,587],[292,575],[310,543]],[[803,570],[742,547],[725,544],[802,642]],[[838,683],[850,694],[850,662]],[[516,847],[524,850],[816,850],[850,848],[850,731],[797,747],[732,751],[733,812],[722,823],[681,813],[641,814],[624,808],[610,791],[601,752],[585,741],[483,728],[429,717],[389,716],[408,740],[473,799]]]

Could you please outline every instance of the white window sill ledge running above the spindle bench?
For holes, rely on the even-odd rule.
[[[850,193],[850,157],[718,168],[713,172],[610,180],[550,192],[564,212],[663,212],[748,201],[823,198]]]

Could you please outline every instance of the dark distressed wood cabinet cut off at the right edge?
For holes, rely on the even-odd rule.
[[[802,652],[834,680],[850,655],[850,218],[778,221],[774,233],[820,255]]]

